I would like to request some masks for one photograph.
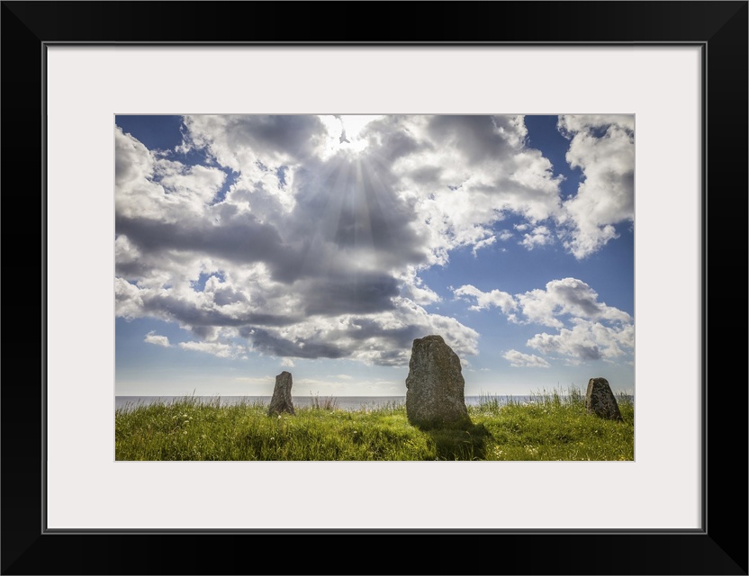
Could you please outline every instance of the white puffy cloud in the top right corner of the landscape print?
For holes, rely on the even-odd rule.
[[[571,140],[567,162],[585,178],[559,218],[564,247],[584,258],[618,238],[616,225],[634,219],[635,118],[560,116],[557,126]]]

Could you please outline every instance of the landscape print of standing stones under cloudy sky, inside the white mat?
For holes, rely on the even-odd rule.
[[[117,461],[634,461],[633,114],[117,114]]]

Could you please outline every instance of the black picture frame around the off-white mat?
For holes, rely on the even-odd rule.
[[[735,336],[746,319],[747,14],[745,1],[3,2],[2,573],[747,574],[746,341]],[[702,529],[48,533],[45,49],[117,42],[701,46]]]

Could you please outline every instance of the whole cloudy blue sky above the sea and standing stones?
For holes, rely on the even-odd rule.
[[[633,115],[118,115],[115,394],[634,392]]]

